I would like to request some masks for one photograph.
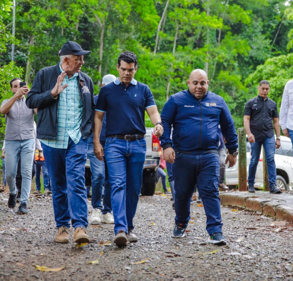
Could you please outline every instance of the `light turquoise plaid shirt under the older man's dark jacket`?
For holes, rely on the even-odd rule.
[[[61,73],[63,71],[61,63],[59,64],[59,68]],[[65,84],[68,84],[68,86],[59,94],[57,140],[40,139],[45,145],[53,148],[66,149],[69,137],[75,144],[81,138],[82,101],[79,94],[77,76],[78,73],[74,73],[70,79],[68,79],[68,76],[65,76],[62,82],[62,86]]]

